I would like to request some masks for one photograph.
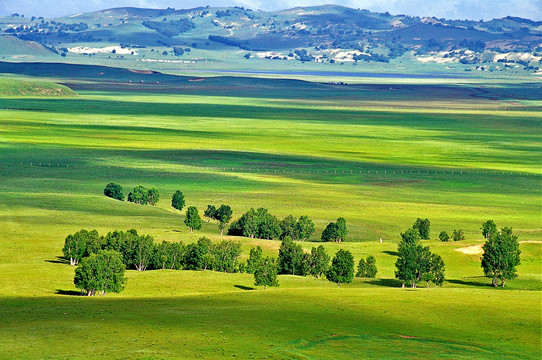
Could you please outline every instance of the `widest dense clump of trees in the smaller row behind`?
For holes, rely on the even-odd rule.
[[[228,235],[245,236],[258,239],[284,239],[290,237],[294,240],[305,240],[314,233],[314,223],[308,216],[296,219],[289,215],[282,221],[269,213],[265,208],[254,210],[251,208],[238,220],[232,222]]]

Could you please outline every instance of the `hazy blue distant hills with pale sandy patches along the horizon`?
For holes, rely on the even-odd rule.
[[[57,19],[0,18],[4,60],[40,60],[46,51],[151,62],[458,65],[459,70],[527,71],[542,61],[542,22],[420,18],[325,5],[277,12],[242,7],[115,8]],[[14,39],[17,38],[17,39]],[[464,65],[464,66],[462,66]],[[284,65],[273,65],[284,66]]]

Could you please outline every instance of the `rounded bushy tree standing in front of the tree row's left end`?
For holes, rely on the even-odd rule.
[[[75,269],[73,282],[81,293],[94,296],[107,292],[120,292],[126,284],[125,266],[116,251],[102,250],[81,260]]]

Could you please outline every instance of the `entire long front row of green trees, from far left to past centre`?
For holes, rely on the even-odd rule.
[[[139,235],[134,229],[111,231],[100,236],[96,230],[82,229],[70,234],[64,241],[64,257],[77,265],[74,284],[82,294],[93,296],[124,289],[125,269],[147,271],[155,269],[214,270],[254,274],[257,286],[278,286],[277,275],[325,276],[337,283],[352,282],[354,260],[347,250],[339,250],[330,263],[330,256],[320,245],[305,253],[299,243],[290,237],[282,240],[278,257],[263,257],[260,246],[250,250],[247,262],[239,262],[241,244],[235,241],[213,243],[202,237],[196,243],[155,243],[149,235]],[[368,265],[369,264],[369,265]],[[376,275],[372,256],[360,260],[358,277]]]

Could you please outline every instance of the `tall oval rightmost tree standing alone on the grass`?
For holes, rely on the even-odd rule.
[[[491,278],[493,286],[504,287],[506,280],[517,277],[516,266],[520,264],[521,251],[518,237],[511,228],[502,228],[492,233],[483,246],[482,269],[484,275]]]

